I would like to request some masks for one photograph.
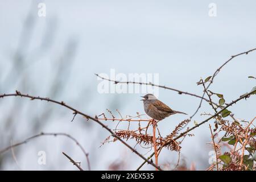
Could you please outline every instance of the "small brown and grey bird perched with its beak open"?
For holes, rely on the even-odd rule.
[[[163,102],[159,101],[153,94],[146,94],[143,96],[144,110],[147,115],[156,120],[162,120],[172,114],[180,113],[186,114],[180,111],[172,110]]]

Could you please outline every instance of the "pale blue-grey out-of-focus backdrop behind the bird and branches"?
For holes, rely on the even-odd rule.
[[[46,16],[39,16],[39,3]],[[216,15],[209,15],[215,3]],[[0,93],[28,93],[64,101],[84,113],[99,115],[106,109],[118,117],[144,114],[142,93],[99,93],[94,73],[158,73],[159,84],[203,94],[200,78],[214,73],[231,55],[256,47],[256,2],[247,1],[3,1],[0,0]],[[250,92],[256,81],[256,52],[236,57],[215,78],[210,90],[224,94],[226,102]],[[192,115],[200,100],[159,89],[159,100]],[[255,117],[256,97],[230,107],[235,117]],[[217,98],[215,100],[217,102]],[[136,169],[143,161],[120,142],[101,142],[109,133],[59,105],[25,98],[0,100],[0,150],[43,132],[75,137],[89,153],[93,170]],[[194,121],[212,112],[203,102]],[[163,136],[170,134],[184,115],[159,123]],[[105,122],[114,129],[115,123]],[[213,123],[210,121],[209,123]],[[120,129],[127,123],[122,123]],[[192,132],[181,144],[181,162],[197,170],[209,166],[209,126]],[[134,140],[128,141],[135,146]],[[101,146],[101,147],[100,147]],[[136,146],[148,156],[148,149]],[[38,152],[46,152],[46,164]],[[0,155],[1,170],[77,170],[61,152],[87,169],[84,154],[65,137],[40,137]],[[177,152],[164,150],[159,164],[172,169]],[[145,165],[142,169],[154,167]]]

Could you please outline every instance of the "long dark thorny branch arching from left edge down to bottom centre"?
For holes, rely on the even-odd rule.
[[[19,91],[16,90],[16,93],[13,93],[13,94],[1,94],[0,95],[0,98],[2,97],[13,97],[13,96],[18,96],[18,97],[27,97],[27,98],[30,98],[31,100],[41,100],[41,101],[48,101],[48,102],[53,102],[55,104],[58,104],[58,105],[62,105],[64,107],[67,107],[69,110],[72,110],[74,111],[74,113],[77,113],[77,114],[80,114],[82,115],[83,117],[85,118],[88,118],[88,119],[92,119],[93,121],[97,122],[99,125],[101,125],[102,127],[104,127],[104,129],[108,130],[109,133],[112,134],[113,137],[117,138],[121,143],[123,143],[126,147],[128,147],[131,151],[133,151],[135,154],[137,154],[140,158],[142,158],[144,161],[146,161],[147,163],[151,164],[152,166],[158,168],[159,170],[162,170],[160,169],[160,167],[156,166],[155,163],[151,162],[150,160],[147,160],[143,155],[139,154],[138,151],[134,150],[133,147],[129,146],[129,144],[127,144],[123,139],[121,139],[120,137],[118,137],[118,135],[116,135],[111,129],[109,129],[108,126],[104,125],[102,122],[100,122],[100,120],[98,120],[97,116],[95,118],[87,115],[87,114],[84,114],[82,113],[81,111],[79,110],[76,110],[74,109],[73,107],[65,104],[63,101],[59,102],[59,101],[55,101],[55,100],[52,100],[50,98],[44,98],[44,97],[34,97],[34,96],[30,96],[28,94],[22,94],[20,93]]]

